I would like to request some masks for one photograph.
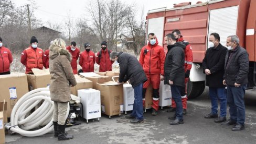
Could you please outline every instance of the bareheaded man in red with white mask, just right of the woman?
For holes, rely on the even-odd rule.
[[[71,45],[69,45],[67,47],[67,50],[72,55],[71,67],[73,69],[73,74],[77,74],[77,59],[78,59],[79,54],[80,54],[80,50],[76,46],[77,46],[76,42],[71,42]]]

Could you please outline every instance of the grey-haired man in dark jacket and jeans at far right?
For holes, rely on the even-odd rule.
[[[248,83],[249,56],[247,51],[239,45],[237,35],[230,35],[226,45],[228,53],[225,58],[223,85],[227,85],[230,119],[222,125],[235,125],[231,130],[238,131],[244,129],[246,118],[243,98]]]

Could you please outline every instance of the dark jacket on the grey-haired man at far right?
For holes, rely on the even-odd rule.
[[[234,50],[228,51],[225,59],[225,75],[227,85],[234,83],[246,85],[248,83],[249,56],[247,51],[238,45]]]

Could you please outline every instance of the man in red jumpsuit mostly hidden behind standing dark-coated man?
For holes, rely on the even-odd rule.
[[[186,45],[186,48],[184,50],[185,52],[185,64],[184,64],[184,69],[185,69],[185,88],[181,88],[181,94],[182,94],[182,106],[183,106],[183,114],[187,113],[187,94],[186,94],[186,84],[188,82],[189,79],[189,75],[190,75],[190,69],[192,67],[193,64],[193,53],[192,53],[192,47],[190,46],[190,44],[187,41],[183,40],[183,37],[180,33],[179,30],[173,30],[172,32],[175,37],[176,37],[176,41],[177,42],[183,42],[183,44]],[[172,100],[172,108],[170,108],[169,110],[167,110],[167,112],[174,112],[176,109],[176,104],[174,102],[174,100]]]

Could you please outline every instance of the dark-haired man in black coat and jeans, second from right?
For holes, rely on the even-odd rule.
[[[215,123],[226,121],[227,95],[225,85],[223,85],[224,65],[227,48],[220,44],[220,35],[211,33],[209,42],[214,46],[207,49],[205,58],[202,60],[202,68],[206,74],[206,86],[209,87],[211,99],[211,112],[205,118],[218,117],[218,100],[220,101],[220,117],[215,119]]]

